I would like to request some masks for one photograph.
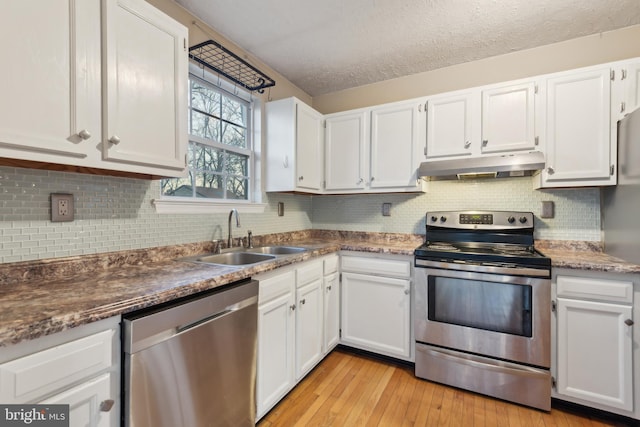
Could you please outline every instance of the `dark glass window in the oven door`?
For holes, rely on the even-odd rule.
[[[428,318],[531,337],[531,286],[429,276]]]

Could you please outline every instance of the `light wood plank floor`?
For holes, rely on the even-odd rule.
[[[258,424],[275,426],[624,426],[525,408],[417,379],[413,368],[337,349]]]

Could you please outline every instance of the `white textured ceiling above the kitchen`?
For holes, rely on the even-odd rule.
[[[176,0],[316,96],[640,24],[640,0]]]

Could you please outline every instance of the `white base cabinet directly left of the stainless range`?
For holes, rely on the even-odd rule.
[[[341,343],[411,360],[411,261],[343,255]]]

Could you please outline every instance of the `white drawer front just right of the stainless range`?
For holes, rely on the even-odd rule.
[[[559,297],[633,303],[633,282],[558,276],[557,286]]]

